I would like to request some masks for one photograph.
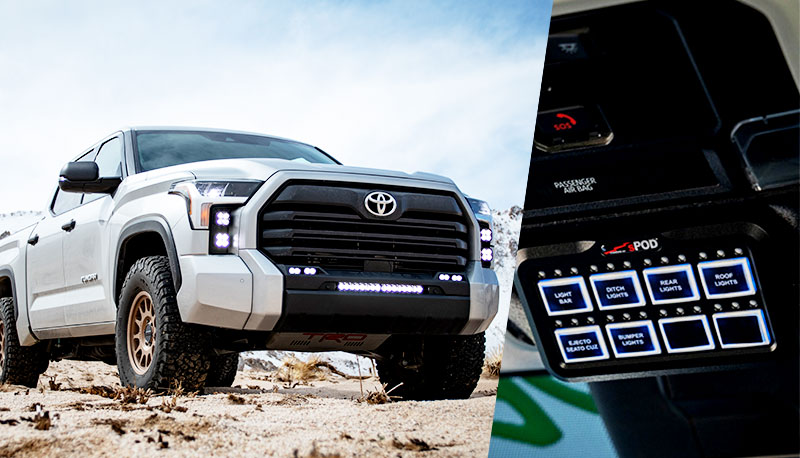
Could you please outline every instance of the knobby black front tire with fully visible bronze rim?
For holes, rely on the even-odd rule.
[[[136,261],[122,284],[116,324],[117,370],[123,385],[185,390],[203,387],[211,365],[208,336],[181,321],[169,261]]]

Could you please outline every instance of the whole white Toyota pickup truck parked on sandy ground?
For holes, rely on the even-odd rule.
[[[449,179],[283,138],[113,133],[0,240],[0,382],[50,360],[124,385],[230,386],[238,352],[342,350],[407,399],[463,398],[497,313],[488,206]]]

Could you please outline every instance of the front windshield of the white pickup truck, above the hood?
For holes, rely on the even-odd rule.
[[[142,172],[215,159],[285,159],[336,164],[330,156],[313,146],[291,140],[231,132],[137,131],[136,149]]]

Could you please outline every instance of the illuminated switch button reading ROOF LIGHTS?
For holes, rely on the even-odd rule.
[[[709,299],[749,296],[756,292],[750,261],[747,258],[701,262],[700,281]]]

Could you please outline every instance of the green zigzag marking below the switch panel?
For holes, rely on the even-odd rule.
[[[527,383],[573,407],[597,414],[597,407],[591,395],[558,383],[549,376],[501,378],[497,387],[497,399],[505,401],[520,414],[523,423],[516,425],[495,420],[492,425],[493,436],[538,446],[554,444],[563,436],[561,429],[547,412],[514,383],[514,379]]]

